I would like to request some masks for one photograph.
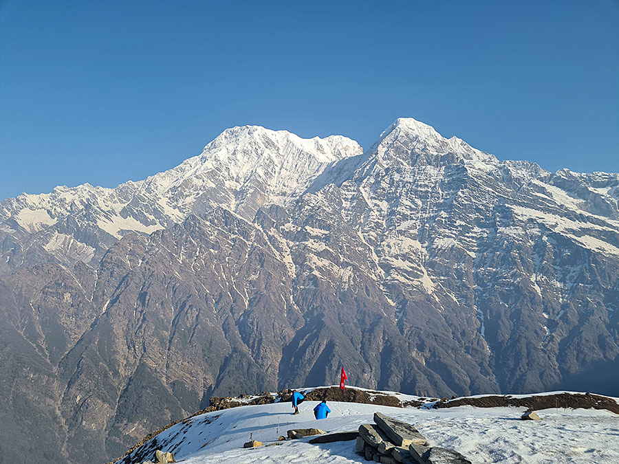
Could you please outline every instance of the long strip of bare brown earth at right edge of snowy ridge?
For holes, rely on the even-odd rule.
[[[555,395],[534,395],[514,398],[511,395],[487,397],[462,397],[451,400],[442,399],[434,408],[455,408],[456,406],[477,406],[478,408],[498,408],[503,406],[525,407],[529,410],[550,408],[605,409],[619,414],[619,404],[612,398],[591,393],[557,393]]]

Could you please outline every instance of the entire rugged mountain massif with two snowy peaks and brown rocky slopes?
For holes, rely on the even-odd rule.
[[[411,119],[363,154],[228,129],[144,181],[8,199],[0,443],[102,462],[212,394],[341,364],[418,395],[617,396],[618,199],[617,174],[500,162]]]

